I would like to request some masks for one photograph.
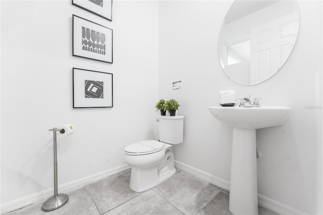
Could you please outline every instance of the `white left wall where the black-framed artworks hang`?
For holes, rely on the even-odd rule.
[[[158,2],[114,1],[113,21],[72,1],[1,1],[1,203],[125,164],[124,147],[155,138]],[[72,57],[72,15],[114,30],[113,64]],[[113,73],[113,108],[73,109],[72,68]]]

